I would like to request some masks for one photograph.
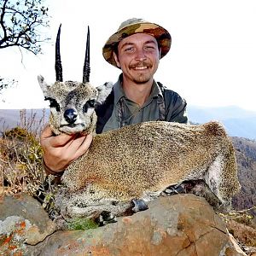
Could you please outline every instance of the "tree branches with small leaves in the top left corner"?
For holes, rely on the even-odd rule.
[[[0,0],[0,49],[18,46],[37,55],[42,38],[40,29],[49,26],[49,9],[44,0]]]

